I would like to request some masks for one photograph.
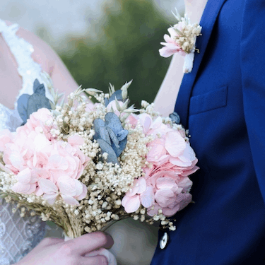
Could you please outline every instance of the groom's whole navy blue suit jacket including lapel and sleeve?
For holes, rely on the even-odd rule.
[[[151,265],[265,264],[265,1],[208,0],[200,25],[175,106],[199,159],[195,204]]]

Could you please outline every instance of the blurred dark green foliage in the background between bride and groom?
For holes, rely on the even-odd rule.
[[[69,49],[59,53],[73,78],[83,88],[108,91],[109,83],[119,89],[126,81],[131,103],[153,102],[165,77],[170,59],[160,57],[163,35],[169,22],[150,0],[115,0],[119,11],[105,6],[98,21],[98,42],[71,40]],[[74,48],[73,48],[74,47]]]

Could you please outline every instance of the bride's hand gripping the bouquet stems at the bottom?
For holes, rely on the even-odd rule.
[[[104,232],[92,232],[64,242],[61,238],[46,237],[16,265],[107,265],[105,256],[86,257],[95,249],[110,249],[112,237]]]

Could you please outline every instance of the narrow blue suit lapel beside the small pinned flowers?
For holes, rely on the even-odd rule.
[[[200,25],[202,27],[202,35],[197,37],[196,40],[196,48],[200,50],[200,53],[195,53],[192,72],[184,74],[175,105],[175,112],[179,114],[181,119],[180,122],[185,129],[188,129],[189,98],[192,94],[192,88],[194,86],[196,74],[199,70],[201,60],[204,57],[208,41],[211,37],[213,25],[215,24],[220,8],[223,6],[225,1],[226,0],[208,0],[208,3],[204,8],[204,13],[201,17]]]

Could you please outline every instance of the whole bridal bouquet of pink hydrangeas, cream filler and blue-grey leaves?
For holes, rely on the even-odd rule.
[[[1,196],[70,238],[128,217],[175,230],[168,217],[192,201],[199,168],[177,114],[160,117],[146,101],[129,107],[131,82],[108,94],[78,88],[60,105],[35,82],[33,100],[21,96],[23,125],[0,132]]]

